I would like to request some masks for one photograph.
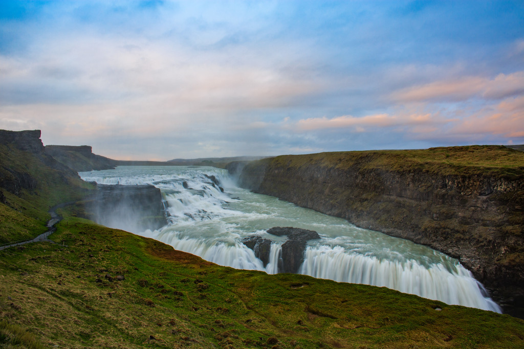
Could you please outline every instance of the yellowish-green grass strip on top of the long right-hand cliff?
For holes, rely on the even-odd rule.
[[[416,150],[369,150],[282,155],[262,161],[298,167],[321,164],[337,168],[429,172],[440,175],[524,176],[524,153],[504,145],[466,145]]]

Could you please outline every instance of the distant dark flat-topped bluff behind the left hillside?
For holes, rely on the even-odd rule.
[[[76,172],[109,170],[115,168],[117,161],[93,154],[89,145],[46,145],[46,154]]]

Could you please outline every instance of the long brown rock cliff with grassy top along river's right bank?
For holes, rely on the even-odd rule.
[[[247,164],[239,184],[453,257],[524,300],[524,154],[505,147],[337,152]]]

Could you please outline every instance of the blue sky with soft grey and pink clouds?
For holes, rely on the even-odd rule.
[[[118,160],[524,144],[524,2],[0,0],[0,129]]]

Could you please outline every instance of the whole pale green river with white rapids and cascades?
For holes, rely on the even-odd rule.
[[[205,175],[215,176],[224,192]],[[286,237],[275,237],[266,230],[310,229],[322,238],[308,242],[301,274],[384,286],[448,304],[500,312],[484,287],[454,258],[275,197],[251,193],[236,187],[225,170],[119,166],[115,170],[82,172],[80,176],[101,184],[151,184],[160,188],[169,224],[160,230],[133,232],[216,264],[276,274]],[[118,224],[113,228],[119,228]],[[275,241],[266,267],[241,242],[253,234]]]

